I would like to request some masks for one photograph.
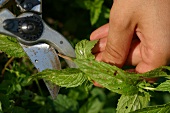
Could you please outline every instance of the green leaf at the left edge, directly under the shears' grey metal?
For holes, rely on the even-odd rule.
[[[0,51],[5,52],[9,56],[23,57],[26,56],[22,47],[19,45],[17,40],[12,37],[0,35]]]

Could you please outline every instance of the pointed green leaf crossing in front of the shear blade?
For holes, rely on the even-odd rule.
[[[48,69],[34,75],[33,78],[45,79],[56,85],[67,88],[77,87],[86,80],[82,71],[77,68],[67,68],[62,70]]]

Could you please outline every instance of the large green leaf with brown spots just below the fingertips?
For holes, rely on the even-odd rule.
[[[138,92],[137,80],[129,78],[128,73],[116,66],[88,59],[75,59],[75,63],[85,75],[103,87],[119,94],[135,94]]]

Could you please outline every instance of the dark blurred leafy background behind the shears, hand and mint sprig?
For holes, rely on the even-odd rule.
[[[112,0],[46,0],[43,1],[43,19],[75,46],[108,22],[112,3]],[[52,100],[42,80],[29,81],[29,76],[37,70],[16,40],[3,35],[0,38],[0,50],[5,52],[0,52],[0,113],[116,112],[120,95],[88,83],[61,88],[58,98]],[[169,93],[151,93],[150,105],[170,102]]]

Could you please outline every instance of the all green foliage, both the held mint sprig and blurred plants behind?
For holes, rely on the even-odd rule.
[[[48,0],[43,2],[43,18],[75,45],[108,22],[112,2]],[[128,73],[95,61],[91,49],[96,43],[83,40],[76,44],[77,57],[72,60],[78,68],[37,73],[17,40],[0,35],[0,113],[170,112],[169,66],[144,74]],[[159,78],[155,83],[145,81],[155,77]],[[49,97],[42,78],[61,86],[55,100]],[[94,87],[93,81],[103,88]]]

